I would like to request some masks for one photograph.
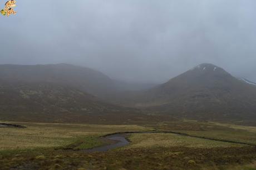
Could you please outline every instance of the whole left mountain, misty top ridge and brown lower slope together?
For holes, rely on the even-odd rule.
[[[90,68],[71,64],[1,65],[0,119],[2,121],[127,123],[155,121],[104,101],[120,91],[142,84],[114,81]]]

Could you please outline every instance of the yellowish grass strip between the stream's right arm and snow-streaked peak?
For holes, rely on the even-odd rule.
[[[217,122],[165,122],[154,127],[160,131],[173,131],[198,137],[256,144],[256,127],[237,126]]]

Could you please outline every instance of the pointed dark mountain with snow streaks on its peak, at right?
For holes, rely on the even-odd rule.
[[[176,117],[250,119],[256,117],[256,86],[205,63],[149,90],[127,94],[123,104]]]

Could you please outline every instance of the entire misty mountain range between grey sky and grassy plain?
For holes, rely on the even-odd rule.
[[[67,120],[110,113],[225,121],[256,118],[255,83],[208,63],[159,85],[116,81],[71,64],[2,65],[0,87],[1,114],[7,119],[32,118],[33,113],[48,115],[48,120],[54,117],[50,115],[68,114]]]

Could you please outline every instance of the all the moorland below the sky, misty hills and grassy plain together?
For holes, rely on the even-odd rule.
[[[70,64],[0,66],[0,169],[256,169],[255,84],[200,64],[142,86]]]

